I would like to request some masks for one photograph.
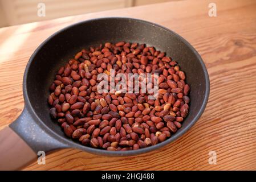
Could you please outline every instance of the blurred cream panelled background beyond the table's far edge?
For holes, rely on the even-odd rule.
[[[167,1],[178,0],[0,0],[0,27]],[[38,16],[38,3],[46,16]]]

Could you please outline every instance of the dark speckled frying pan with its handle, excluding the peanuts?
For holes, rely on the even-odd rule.
[[[137,42],[154,46],[178,62],[190,85],[189,114],[181,129],[155,146],[133,151],[106,151],[86,147],[67,138],[49,115],[48,88],[55,73],[82,48],[104,42]],[[0,169],[19,169],[38,151],[78,148],[108,156],[137,155],[156,150],[177,139],[194,125],[209,97],[209,76],[197,51],[181,36],[155,23],[131,18],[100,18],[76,23],[51,35],[30,57],[23,77],[25,107],[19,118],[0,131]]]

